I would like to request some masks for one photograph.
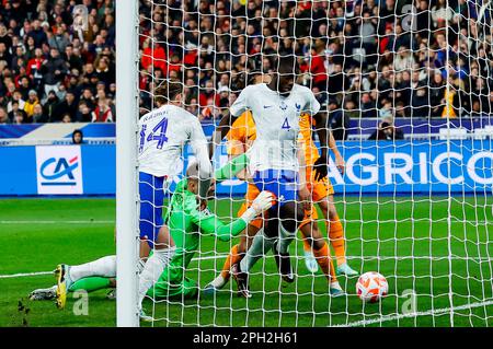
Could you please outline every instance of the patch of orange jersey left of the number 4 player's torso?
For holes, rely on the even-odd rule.
[[[250,110],[244,112],[234,120],[226,138],[230,155],[240,155],[252,147],[256,139],[256,128]]]

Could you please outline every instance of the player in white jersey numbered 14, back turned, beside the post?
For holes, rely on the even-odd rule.
[[[198,119],[181,107],[182,90],[182,84],[173,81],[157,88],[154,102],[158,108],[142,116],[139,121],[139,230],[144,242],[140,244],[140,257],[146,258],[153,248],[139,277],[139,310],[142,318],[147,318],[141,311],[142,300],[175,251],[174,242],[163,222],[162,208],[164,193],[169,182],[177,174],[186,142],[190,142],[197,158],[198,190],[204,200],[213,177],[207,139]],[[58,270],[59,286],[65,284],[66,272],[67,270]],[[66,290],[60,287],[59,289],[57,298],[58,293],[66,293]]]

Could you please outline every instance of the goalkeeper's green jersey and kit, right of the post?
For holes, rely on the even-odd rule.
[[[196,195],[186,187],[187,181],[182,179],[171,198],[167,224],[176,252],[158,282],[148,291],[147,294],[151,298],[196,296],[198,286],[185,276],[185,271],[197,252],[200,239],[215,235],[227,242],[246,228],[246,222],[241,218],[225,224],[207,208],[200,211]]]

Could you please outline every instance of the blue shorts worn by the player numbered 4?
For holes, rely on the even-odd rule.
[[[283,206],[287,201],[298,199],[297,172],[291,170],[265,170],[253,174],[253,183],[259,190],[267,190],[275,195],[276,201]]]

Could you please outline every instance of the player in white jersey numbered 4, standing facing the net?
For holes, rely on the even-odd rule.
[[[321,143],[321,156],[314,163],[317,179],[328,174],[326,117],[318,114],[320,104],[310,89],[295,84],[297,61],[293,56],[279,57],[278,71],[268,84],[246,86],[230,107],[214,136],[214,143],[222,139],[229,126],[246,109],[252,112],[256,139],[249,151],[250,172],[259,190],[272,191],[277,205],[268,210],[264,232],[255,235],[241,264],[232,267],[239,292],[250,296],[248,272],[256,260],[274,249],[277,266],[287,282],[293,282],[288,246],[296,236],[303,210],[298,201],[308,202],[310,194],[306,185],[297,183],[297,138],[299,117],[302,113],[313,115]]]

